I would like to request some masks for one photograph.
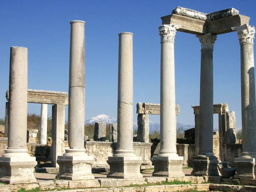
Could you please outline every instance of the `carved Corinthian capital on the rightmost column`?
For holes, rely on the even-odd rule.
[[[254,33],[255,33],[254,26],[250,26],[249,24],[244,24],[238,27],[231,27],[231,29],[237,32],[240,44],[254,43]]]

